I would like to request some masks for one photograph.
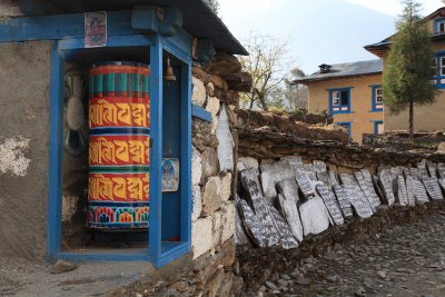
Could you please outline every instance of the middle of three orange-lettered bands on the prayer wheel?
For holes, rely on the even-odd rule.
[[[90,166],[149,165],[149,137],[140,135],[90,136]]]

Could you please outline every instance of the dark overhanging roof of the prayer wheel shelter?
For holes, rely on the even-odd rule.
[[[69,4],[67,0],[21,0],[21,4],[28,14],[131,10],[136,6],[177,7],[184,14],[184,28],[192,36],[214,40],[215,47],[227,53],[248,55],[205,0],[71,0]]]

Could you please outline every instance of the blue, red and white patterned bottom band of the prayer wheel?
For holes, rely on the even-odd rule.
[[[148,228],[149,206],[89,206],[90,228],[135,229]]]

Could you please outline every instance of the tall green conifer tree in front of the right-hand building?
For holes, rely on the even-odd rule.
[[[397,33],[392,38],[387,70],[384,73],[385,105],[392,115],[409,109],[409,140],[414,133],[414,103],[434,102],[436,88],[429,82],[435,75],[431,67],[433,46],[428,29],[419,16],[421,4],[404,0],[397,21]]]

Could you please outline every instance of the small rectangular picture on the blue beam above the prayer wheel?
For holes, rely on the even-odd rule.
[[[107,46],[107,12],[85,13],[85,47],[100,48]]]

